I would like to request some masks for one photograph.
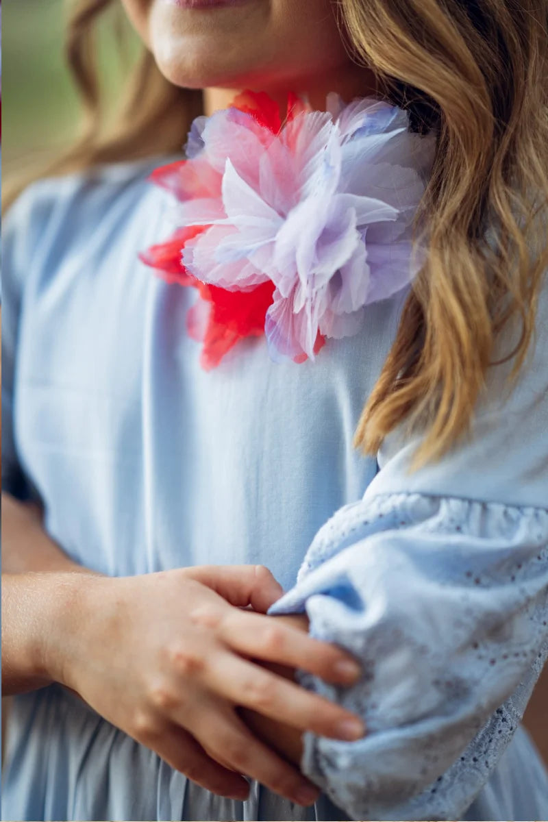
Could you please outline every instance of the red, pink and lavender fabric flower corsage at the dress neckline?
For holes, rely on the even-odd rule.
[[[140,259],[198,289],[187,330],[201,365],[251,335],[274,360],[302,363],[357,334],[366,305],[422,265],[413,222],[433,151],[375,99],[329,95],[320,112],[291,95],[282,122],[274,100],[245,92],[197,118],[187,159],[150,175],[174,197],[175,229]]]

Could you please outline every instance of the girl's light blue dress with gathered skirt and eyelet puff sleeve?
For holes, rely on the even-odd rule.
[[[173,158],[175,159],[175,158]],[[187,781],[58,686],[15,700],[4,820],[546,820],[548,775],[520,718],[548,653],[548,298],[515,390],[490,369],[473,435],[408,473],[394,432],[352,449],[404,294],[315,363],[264,339],[212,372],[185,330],[195,289],[137,260],[168,195],[117,164],[30,186],[3,224],[4,489],[108,575],[264,563],[314,635],[361,658],[337,690],[367,736],[307,733],[303,809]],[[509,339],[504,340],[509,344]],[[298,575],[298,577],[297,577]]]

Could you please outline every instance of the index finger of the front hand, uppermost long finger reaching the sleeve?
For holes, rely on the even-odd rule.
[[[219,634],[239,653],[302,668],[327,682],[352,685],[361,673],[360,665],[336,645],[313,640],[274,617],[230,610],[219,625]]]

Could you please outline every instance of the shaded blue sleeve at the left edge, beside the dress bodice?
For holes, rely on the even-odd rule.
[[[2,217],[2,491],[26,500],[32,496],[17,455],[14,432],[17,341],[25,280],[52,211],[54,183],[32,183]]]

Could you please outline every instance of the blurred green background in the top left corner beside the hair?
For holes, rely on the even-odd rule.
[[[80,119],[76,88],[63,48],[64,21],[76,0],[2,0],[2,172],[48,159],[75,136]],[[99,70],[113,100],[123,61],[115,37],[117,3],[99,26]],[[129,56],[136,37],[128,39]],[[132,52],[131,52],[132,49]]]

